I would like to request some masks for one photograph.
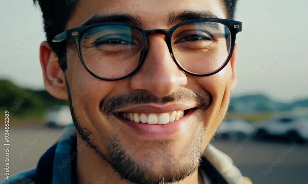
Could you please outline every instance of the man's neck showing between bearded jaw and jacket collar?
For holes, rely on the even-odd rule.
[[[77,137],[77,145],[83,141]],[[77,181],[79,184],[103,183],[103,184],[132,184],[121,179],[119,174],[109,163],[104,161],[92,148],[84,147],[77,156]],[[203,184],[200,172],[196,170],[192,175],[186,177],[176,184]]]

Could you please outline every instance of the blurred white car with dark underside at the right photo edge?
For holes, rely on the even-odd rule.
[[[288,141],[308,141],[308,119],[281,117],[261,122],[257,127],[262,139],[280,138]]]

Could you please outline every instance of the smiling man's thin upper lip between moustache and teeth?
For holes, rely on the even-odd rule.
[[[130,108],[125,108],[122,110],[117,110],[117,112],[122,113],[165,113],[165,112],[172,112],[177,110],[187,110],[197,107],[197,104],[180,104],[180,103],[173,103],[170,105],[160,106],[158,104],[146,104],[140,106],[134,106]]]

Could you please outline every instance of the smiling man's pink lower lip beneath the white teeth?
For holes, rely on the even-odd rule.
[[[120,116],[116,116],[121,122],[130,127],[137,134],[146,136],[147,139],[166,139],[168,137],[176,136],[187,132],[189,128],[189,122],[187,121],[196,108],[189,109],[185,115],[179,120],[174,120],[164,125],[148,124],[148,123],[136,123]]]

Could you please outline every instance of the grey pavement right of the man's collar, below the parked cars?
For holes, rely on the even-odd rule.
[[[308,184],[308,144],[295,147],[292,143],[253,139],[245,143],[214,140],[212,144],[230,154],[242,174],[253,183]]]

